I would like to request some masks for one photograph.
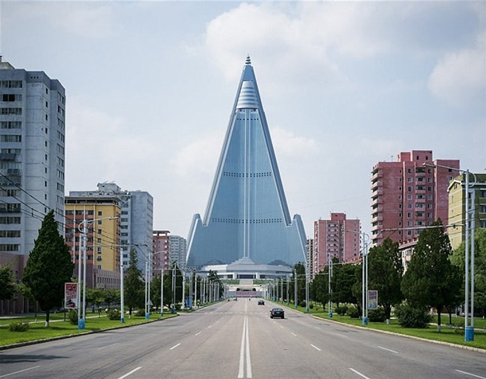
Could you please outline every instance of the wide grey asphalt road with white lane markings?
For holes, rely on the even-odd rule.
[[[0,351],[0,378],[485,378],[486,353],[224,301],[151,324]],[[87,321],[89,322],[89,320]]]

